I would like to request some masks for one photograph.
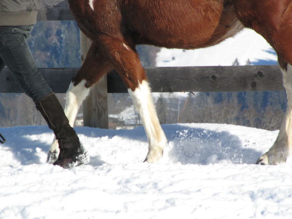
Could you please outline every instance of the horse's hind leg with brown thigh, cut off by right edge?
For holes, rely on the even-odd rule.
[[[239,19],[260,33],[278,54],[288,105],[274,145],[258,159],[257,164],[282,163],[287,160],[292,149],[292,3],[287,0],[234,2]]]

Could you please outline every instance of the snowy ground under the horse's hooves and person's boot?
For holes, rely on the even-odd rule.
[[[89,164],[46,163],[46,126],[0,128],[0,219],[291,219],[292,162],[254,165],[278,132],[164,125],[168,147],[143,163],[142,127],[77,127]]]

